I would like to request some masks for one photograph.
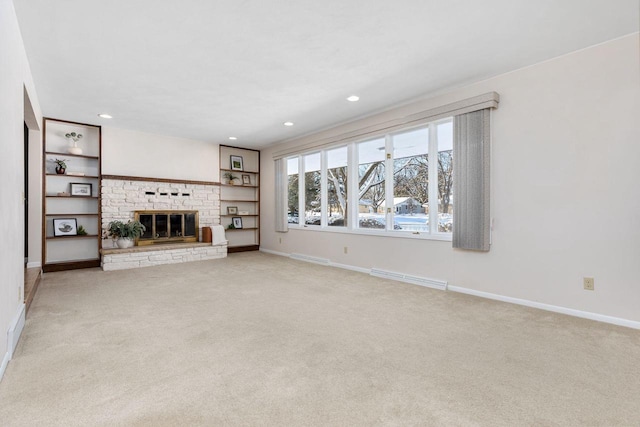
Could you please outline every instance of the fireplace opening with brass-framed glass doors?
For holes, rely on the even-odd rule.
[[[146,228],[138,246],[198,241],[198,211],[135,211],[134,217]]]

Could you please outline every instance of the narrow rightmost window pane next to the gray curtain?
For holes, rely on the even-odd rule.
[[[453,227],[453,122],[440,123],[438,132],[438,231]]]

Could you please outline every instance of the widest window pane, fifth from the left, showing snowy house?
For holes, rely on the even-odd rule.
[[[392,212],[396,230],[429,231],[428,152],[429,128],[393,135]]]

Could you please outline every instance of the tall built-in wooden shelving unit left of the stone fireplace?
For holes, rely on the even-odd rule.
[[[81,154],[67,152],[71,143],[65,134],[71,132],[83,136],[78,141]],[[43,271],[99,267],[102,129],[100,126],[45,118],[43,134]],[[55,159],[66,161],[65,174],[56,173],[53,162]],[[76,174],[69,175],[69,172]],[[59,195],[70,194],[71,183],[91,184],[91,195]],[[55,219],[75,219],[77,227],[83,226],[87,234],[55,236]]]

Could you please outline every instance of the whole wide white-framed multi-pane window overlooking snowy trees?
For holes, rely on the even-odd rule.
[[[449,239],[452,150],[453,122],[447,118],[288,158],[288,222],[323,230]],[[350,182],[350,176],[357,182]]]

